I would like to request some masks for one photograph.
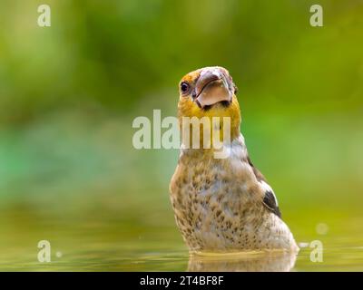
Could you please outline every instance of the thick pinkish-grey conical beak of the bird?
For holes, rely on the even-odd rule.
[[[192,93],[193,101],[201,108],[217,102],[231,102],[233,85],[230,82],[219,67],[203,69]]]

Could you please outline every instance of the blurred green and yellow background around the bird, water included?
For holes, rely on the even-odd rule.
[[[49,0],[43,28],[41,4],[0,2],[1,270],[184,270],[179,152],[133,149],[132,121],[175,115],[182,75],[210,65],[284,220],[325,245],[295,269],[363,269],[363,1],[319,1],[323,27],[316,1]]]

